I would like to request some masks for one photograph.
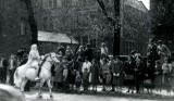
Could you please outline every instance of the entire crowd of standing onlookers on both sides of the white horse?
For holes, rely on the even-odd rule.
[[[127,92],[134,92],[134,89],[139,92],[141,86],[154,86],[157,79],[158,84],[167,84],[173,74],[171,52],[161,40],[149,42],[146,58],[133,50],[126,61],[120,55],[110,55],[104,42],[99,49],[86,45],[73,51],[70,46],[61,46],[55,52],[60,62],[52,67],[53,88],[65,91],[80,92],[82,88],[84,91],[89,88],[97,91],[101,85],[103,91],[108,87],[112,88],[112,91],[119,91],[120,87],[126,86]],[[0,81],[13,85],[16,67],[27,60],[27,52],[24,51],[12,54],[9,59],[1,58]]]

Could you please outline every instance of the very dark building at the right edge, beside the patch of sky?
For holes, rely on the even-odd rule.
[[[152,34],[174,53],[174,0],[150,0]]]

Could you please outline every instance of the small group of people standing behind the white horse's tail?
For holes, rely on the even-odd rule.
[[[27,59],[27,52],[24,49],[14,54],[12,53],[10,58],[2,54],[0,56],[0,83],[14,85],[14,72],[18,66],[25,64]]]

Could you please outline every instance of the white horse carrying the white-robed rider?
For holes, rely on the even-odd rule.
[[[44,86],[45,81],[47,83],[49,87],[50,97],[52,98],[52,91],[51,91],[51,67],[54,62],[59,62],[57,59],[55,53],[49,53],[45,55],[45,59],[41,63],[41,71],[39,74],[40,78],[40,88],[38,96],[41,97],[41,87]],[[16,87],[21,89],[22,92],[24,92],[24,87],[28,80],[35,81],[35,78],[37,77],[38,68],[34,67],[25,67],[26,65],[22,65],[17,67],[17,70],[14,73],[14,84]]]

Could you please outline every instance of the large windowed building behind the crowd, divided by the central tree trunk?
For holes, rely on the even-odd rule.
[[[34,0],[33,0],[34,1]],[[138,50],[145,54],[149,30],[149,13],[138,0],[122,0],[121,54]],[[109,16],[114,16],[113,0],[103,0]],[[104,41],[113,53],[113,25],[103,15],[97,0],[35,0],[39,30],[64,33],[80,45],[100,47]]]

